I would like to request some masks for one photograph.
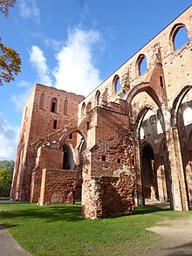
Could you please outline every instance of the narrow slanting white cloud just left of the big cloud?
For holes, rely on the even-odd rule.
[[[45,86],[52,86],[49,75],[50,71],[46,63],[44,52],[37,45],[31,46],[30,61],[38,72],[38,83],[44,84]]]

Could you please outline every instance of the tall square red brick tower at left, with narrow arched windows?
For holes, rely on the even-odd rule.
[[[40,107],[41,94],[45,93],[44,106]],[[51,100],[58,100],[58,107],[51,112]],[[17,145],[17,158],[14,170],[10,196],[18,200],[29,200],[31,191],[31,173],[35,168],[37,151],[31,145],[46,135],[54,133],[59,128],[64,128],[69,123],[77,126],[79,102],[83,96],[68,93],[36,84],[31,92],[29,100],[24,106],[20,135]],[[64,113],[65,100],[68,100],[67,113]],[[53,128],[53,122],[57,121],[57,128]],[[72,140],[76,143],[75,136]],[[72,142],[72,143],[74,143]],[[57,156],[57,155],[55,155]],[[54,154],[53,154],[54,157]],[[56,158],[55,158],[56,159]],[[50,158],[47,158],[49,161]],[[62,163],[60,163],[62,165]],[[55,168],[49,164],[45,167]],[[58,166],[56,167],[58,168]],[[61,167],[59,167],[60,169]]]

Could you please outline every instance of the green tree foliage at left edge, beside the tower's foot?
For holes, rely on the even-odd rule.
[[[10,171],[5,168],[0,169],[0,197],[10,196],[11,181]]]

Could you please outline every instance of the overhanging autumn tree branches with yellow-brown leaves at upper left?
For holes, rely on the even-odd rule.
[[[13,7],[16,0],[0,0],[0,11],[5,17],[9,16],[9,8]],[[19,53],[5,46],[0,38],[0,86],[3,81],[9,83],[21,71]]]

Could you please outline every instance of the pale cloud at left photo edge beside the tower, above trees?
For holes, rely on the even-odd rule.
[[[19,128],[11,127],[0,115],[0,161],[15,160],[18,130]]]

